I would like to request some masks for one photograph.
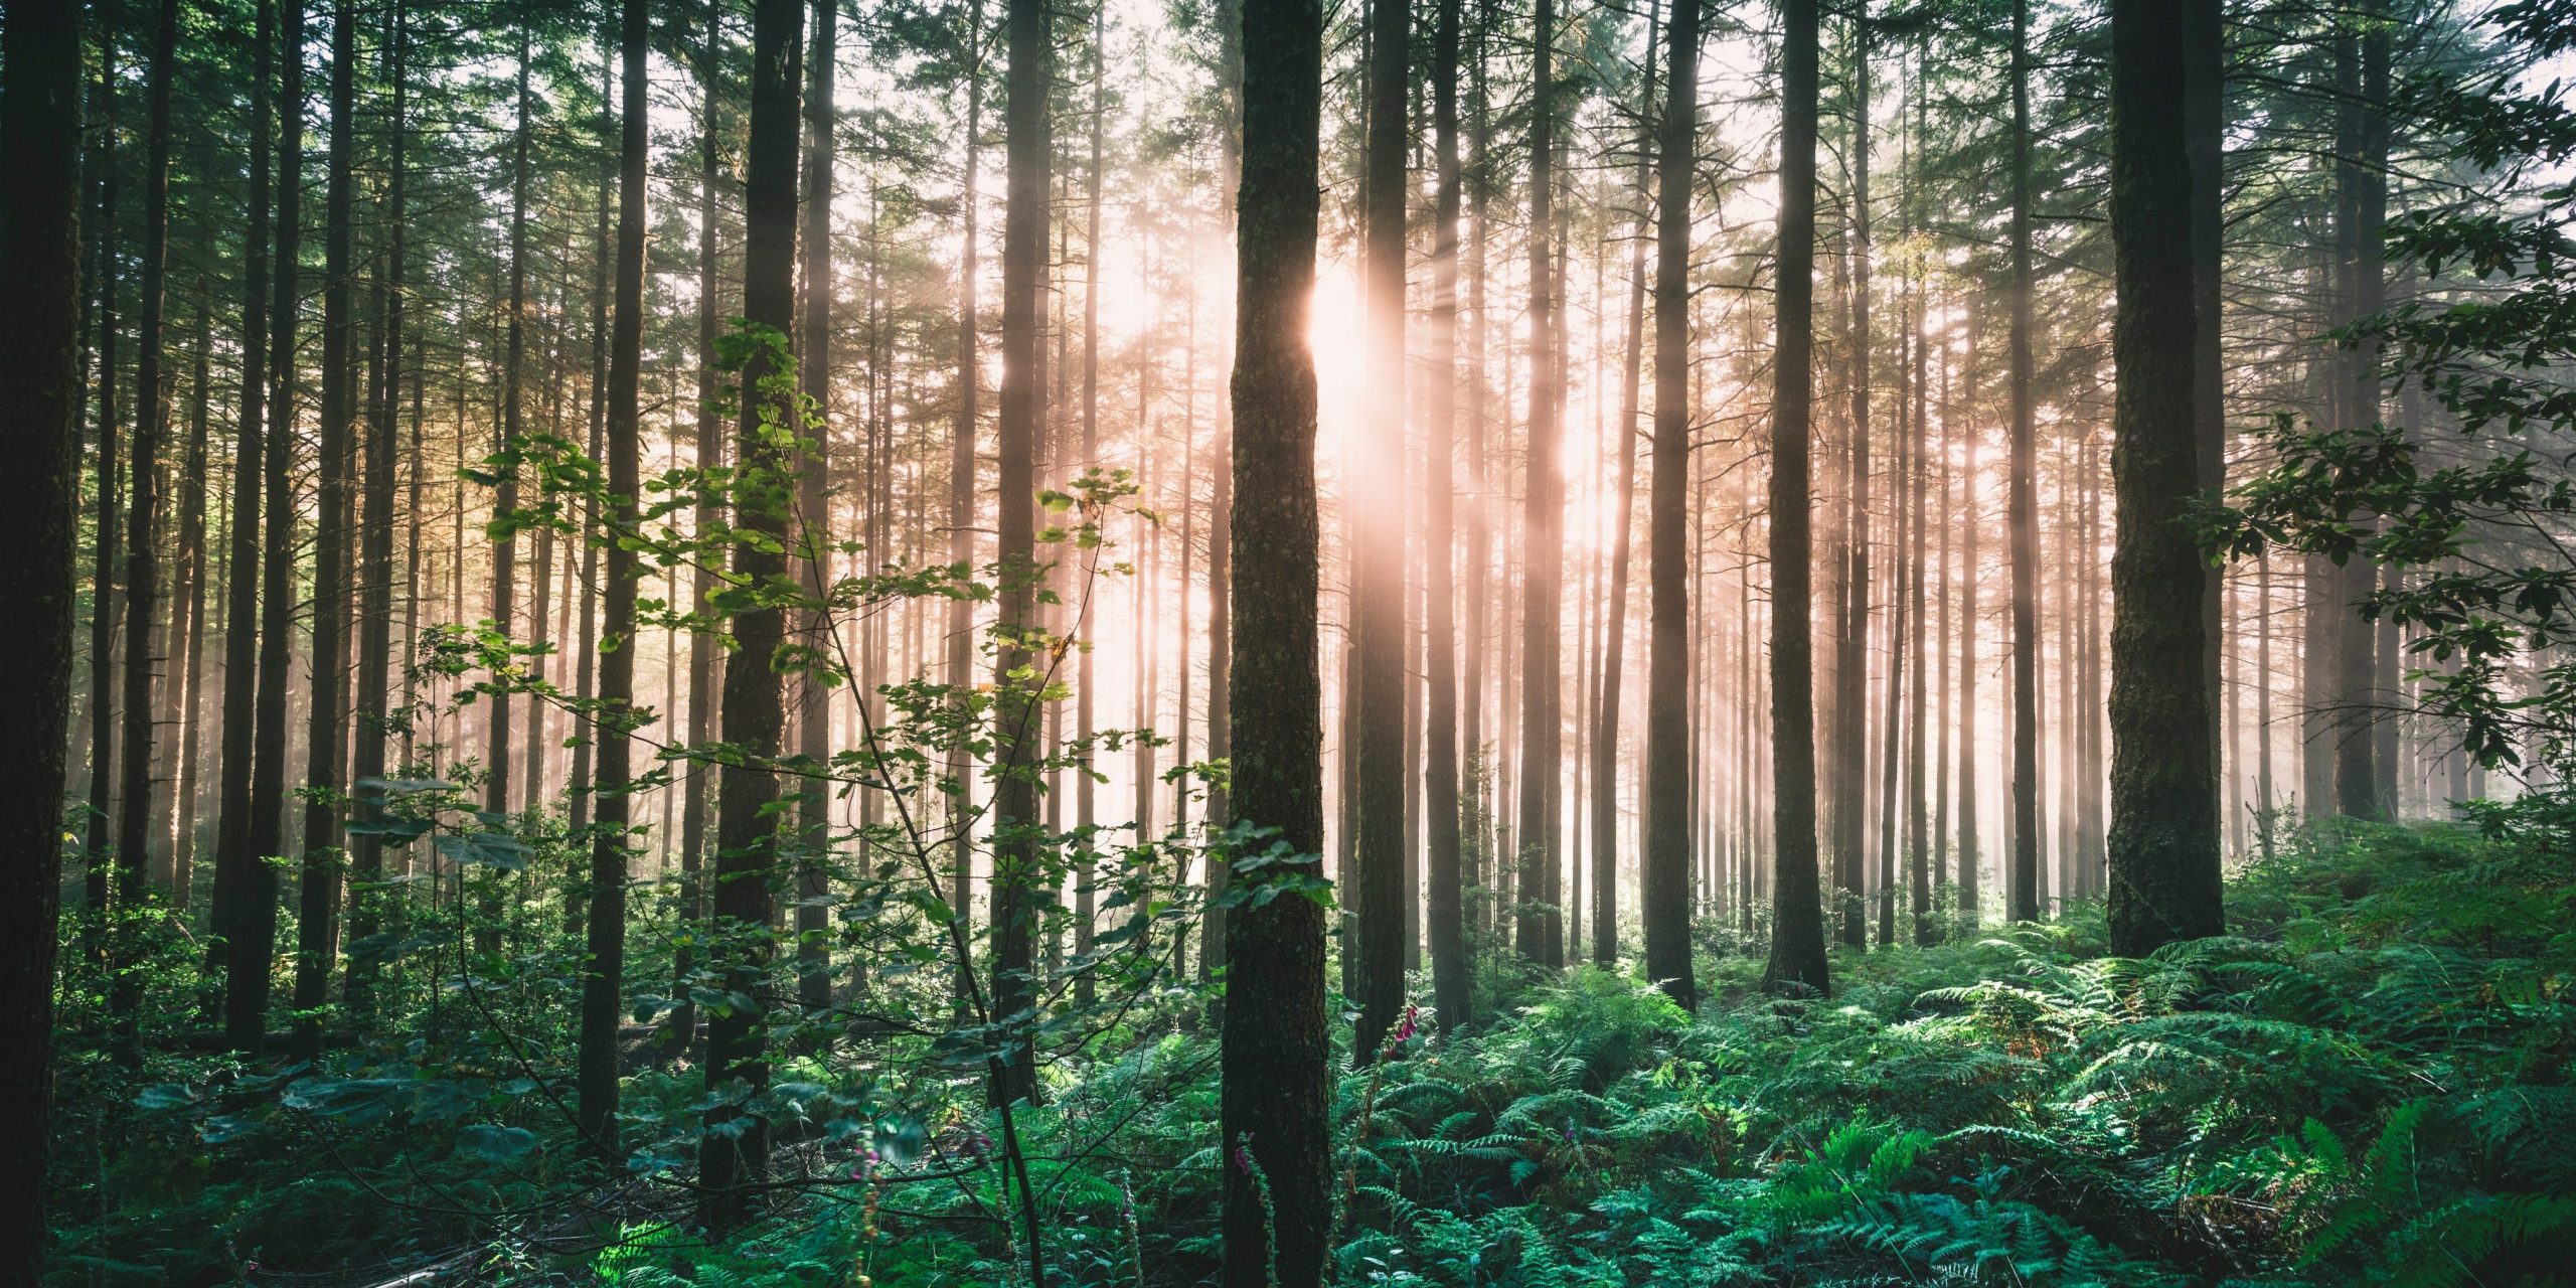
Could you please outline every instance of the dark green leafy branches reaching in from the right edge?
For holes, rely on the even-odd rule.
[[[2553,649],[2576,613],[2576,559],[2558,536],[2576,513],[2563,461],[2576,428],[2576,106],[2553,72],[2576,5],[2519,0],[2478,26],[2491,36],[2481,70],[2398,90],[2416,134],[2476,165],[2476,196],[2391,219],[2385,255],[2424,281],[2334,335],[2362,350],[2401,415],[2275,415],[2259,435],[2269,464],[2205,510],[2202,541],[2223,559],[2280,546],[2398,569],[2360,613],[2406,629],[2416,703],[2486,765],[2566,770],[2576,665]]]

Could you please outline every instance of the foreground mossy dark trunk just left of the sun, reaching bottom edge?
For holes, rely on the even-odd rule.
[[[1285,860],[1236,871],[1239,889],[1319,881],[1324,853],[1321,536],[1316,392],[1306,350],[1314,291],[1324,13],[1316,0],[1244,0],[1244,183],[1234,294],[1234,817]],[[1262,858],[1270,845],[1249,855]],[[1247,889],[1247,894],[1255,894]],[[1218,1167],[1226,1288],[1319,1288],[1332,1229],[1324,1064],[1324,907],[1298,891],[1226,920],[1218,1048]]]

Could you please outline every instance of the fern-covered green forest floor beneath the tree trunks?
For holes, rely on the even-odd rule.
[[[1708,927],[1698,1018],[1618,971],[1533,984],[1337,1077],[1340,1283],[2571,1283],[2576,858],[2306,835],[2231,881],[2231,920],[2148,961],[2102,956],[2084,907],[1837,951],[1832,999],[1757,994],[1759,961]],[[1175,994],[1023,1113],[1051,1283],[1213,1273],[1198,1018]],[[683,1082],[641,1074],[631,1108],[683,1115]],[[227,1144],[247,1118],[188,1121],[175,1172],[100,1159],[88,1193],[113,1200],[59,1231],[62,1283],[1025,1283],[963,1095],[881,1185],[848,1151],[783,1154],[819,1182],[724,1244],[670,1188],[567,1198],[533,1164],[438,1162],[474,1141],[281,1154]]]

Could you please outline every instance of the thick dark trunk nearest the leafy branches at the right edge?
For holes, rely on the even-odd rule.
[[[2172,13],[2112,0],[2112,951],[2215,935],[2218,775],[2202,672],[2202,580],[2179,523],[2197,482],[2192,173]]]

